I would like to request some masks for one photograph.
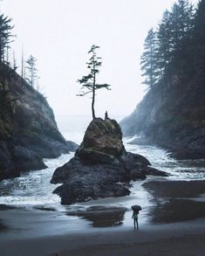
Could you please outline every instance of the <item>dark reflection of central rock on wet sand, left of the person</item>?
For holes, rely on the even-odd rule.
[[[86,211],[72,211],[66,214],[85,218],[92,222],[93,227],[109,227],[122,225],[125,212],[124,207],[92,206]]]

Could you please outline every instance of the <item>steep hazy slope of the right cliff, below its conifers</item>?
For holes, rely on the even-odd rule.
[[[205,80],[179,80],[161,98],[156,86],[133,114],[120,122],[125,135],[140,135],[133,143],[159,145],[178,159],[205,158]]]

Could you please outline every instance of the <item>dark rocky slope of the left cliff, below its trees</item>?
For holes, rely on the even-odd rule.
[[[2,64],[0,97],[0,180],[44,169],[44,157],[75,148],[59,133],[44,96]]]

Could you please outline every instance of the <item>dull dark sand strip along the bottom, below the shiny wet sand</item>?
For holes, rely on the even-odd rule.
[[[204,255],[204,220],[1,242],[1,255]]]

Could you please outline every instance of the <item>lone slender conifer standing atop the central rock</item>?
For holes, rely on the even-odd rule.
[[[87,64],[87,68],[89,73],[82,77],[81,80],[78,80],[80,83],[81,91],[78,96],[85,96],[88,93],[92,93],[92,119],[95,119],[95,96],[96,91],[101,88],[106,88],[107,90],[110,89],[110,85],[107,84],[98,84],[97,83],[97,75],[99,74],[99,67],[102,65],[102,61],[100,57],[97,57],[96,50],[99,48],[97,45],[92,45],[91,50],[88,54],[91,54],[91,58],[89,59]]]

